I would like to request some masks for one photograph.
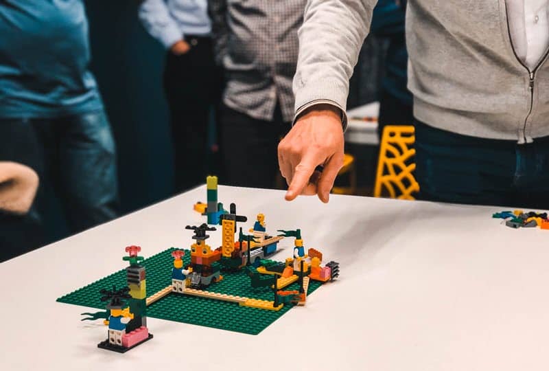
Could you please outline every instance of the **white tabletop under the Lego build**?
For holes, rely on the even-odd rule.
[[[148,319],[154,339],[124,355],[88,308],[60,295],[125,267],[127,245],[151,256],[188,247],[183,227],[205,187],[0,264],[0,370],[548,370],[549,232],[491,218],[504,207],[220,186],[268,230],[301,227],[306,247],[341,264],[340,279],[259,335]],[[211,245],[220,243],[213,234]],[[283,241],[277,260],[291,254]]]

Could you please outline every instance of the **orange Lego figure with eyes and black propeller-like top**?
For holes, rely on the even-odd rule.
[[[206,243],[206,240],[209,238],[206,232],[215,231],[215,227],[208,227],[204,223],[198,227],[187,225],[185,229],[193,230],[193,239],[196,240],[191,245],[191,264],[187,267],[186,273],[189,286],[193,289],[202,289],[222,280],[223,276],[220,273],[221,265],[219,263],[221,252],[219,250],[212,250]],[[175,264],[174,262],[174,267]]]

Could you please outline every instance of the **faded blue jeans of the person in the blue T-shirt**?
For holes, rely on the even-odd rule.
[[[33,214],[41,214],[44,188],[60,199],[71,232],[117,216],[118,186],[115,142],[104,111],[55,119],[0,119],[14,131],[33,133],[38,158],[30,159],[40,175]]]

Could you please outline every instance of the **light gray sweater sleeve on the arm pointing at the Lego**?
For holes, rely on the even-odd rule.
[[[344,112],[349,78],[370,28],[377,0],[309,0],[299,30],[295,109],[336,104]]]

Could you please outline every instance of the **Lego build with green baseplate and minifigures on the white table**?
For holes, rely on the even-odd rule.
[[[209,199],[216,200],[216,196]],[[322,253],[305,249],[301,229],[281,230],[281,235],[270,236],[265,215],[258,214],[253,227],[247,229],[249,234],[239,227],[235,240],[237,223],[247,221],[246,216],[237,214],[236,205],[231,204],[229,212],[219,214],[218,219],[222,243],[217,249],[207,245],[207,232],[218,229],[207,223],[187,226],[185,229],[194,232],[189,250],[172,247],[144,260],[139,256],[140,247],[126,247],[129,256],[123,259],[130,264],[127,269],[58,301],[104,308],[95,293],[126,280],[128,287],[124,289],[102,291],[102,297],[110,300],[108,311],[83,313],[89,316],[85,319],[103,319],[110,324],[112,336],[100,348],[125,352],[152,338],[146,326],[147,314],[256,335],[292,306],[304,305],[309,293],[339,275],[337,262],[323,267]],[[295,238],[292,257],[285,262],[268,260],[285,237]],[[145,280],[145,266],[149,282]],[[153,291],[148,297],[145,285]],[[258,308],[264,313],[258,313]]]

